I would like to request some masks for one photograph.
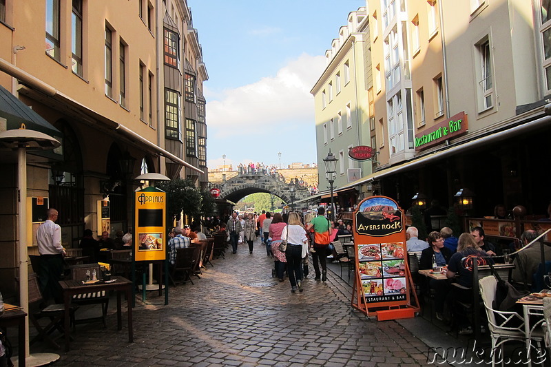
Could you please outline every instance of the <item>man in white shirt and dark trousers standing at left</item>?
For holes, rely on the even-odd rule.
[[[44,300],[54,297],[56,303],[63,302],[59,280],[63,275],[63,256],[61,246],[61,227],[56,224],[58,212],[50,208],[46,212],[46,221],[37,230],[37,242],[40,253],[40,284]]]

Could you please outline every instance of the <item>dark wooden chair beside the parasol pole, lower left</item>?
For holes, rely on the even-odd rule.
[[[29,274],[29,319],[30,322],[38,331],[38,335],[30,341],[30,345],[35,342],[43,339],[45,342],[50,344],[53,348],[59,349],[59,344],[55,342],[54,339],[50,337],[50,334],[58,330],[61,335],[65,333],[63,328],[63,319],[65,317],[65,305],[64,304],[50,304],[45,308],[40,308],[40,304],[43,303],[42,294],[40,292],[39,282],[36,273]],[[74,311],[79,308],[78,306],[71,306],[70,308],[70,319],[74,326]],[[48,317],[50,319],[50,324],[47,326],[41,326],[39,319]],[[22,346],[20,346],[22,348]]]

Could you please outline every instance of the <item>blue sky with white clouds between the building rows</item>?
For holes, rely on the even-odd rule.
[[[207,165],[316,162],[310,90],[365,0],[187,0],[209,80]]]

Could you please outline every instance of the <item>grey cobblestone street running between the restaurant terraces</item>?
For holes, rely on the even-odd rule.
[[[164,295],[141,296],[134,308],[134,343],[116,331],[110,303],[107,330],[79,326],[56,366],[420,366],[428,347],[394,321],[351,311],[349,287],[329,272],[303,293],[271,277],[273,262],[258,241],[252,255],[213,261],[201,279]],[[125,315],[123,315],[125,317]],[[124,320],[124,319],[123,319]],[[52,352],[52,350],[49,350]]]

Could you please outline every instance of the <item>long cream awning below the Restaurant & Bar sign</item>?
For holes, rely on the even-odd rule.
[[[543,116],[543,117],[536,118],[535,120],[531,120],[527,123],[521,123],[520,125],[516,125],[514,127],[504,129],[501,132],[489,132],[488,135],[481,136],[479,138],[475,138],[472,140],[468,140],[463,143],[458,143],[457,145],[450,145],[450,147],[444,147],[439,151],[435,151],[433,153],[426,154],[424,156],[419,156],[418,158],[414,158],[413,160],[409,160],[408,162],[404,162],[400,165],[388,167],[385,169],[381,169],[380,171],[373,172],[373,174],[369,174],[368,176],[360,178],[360,180],[356,180],[355,182],[351,182],[349,185],[342,187],[341,190],[349,189],[351,187],[362,185],[375,180],[380,180],[381,178],[384,178],[391,174],[397,174],[402,171],[408,171],[410,169],[418,168],[423,165],[427,165],[428,163],[433,162],[434,160],[453,156],[454,154],[462,153],[468,149],[481,147],[481,145],[496,143],[499,140],[512,138],[513,136],[518,136],[519,134],[530,132],[534,129],[541,129],[545,127],[548,128],[550,122],[551,122],[551,116]]]

